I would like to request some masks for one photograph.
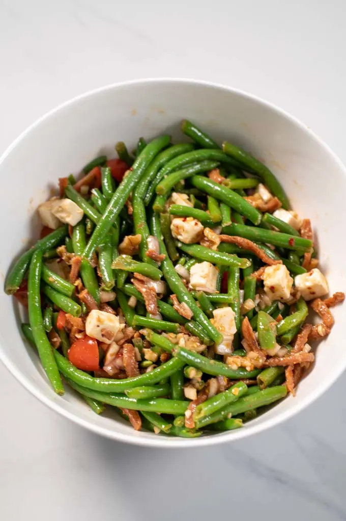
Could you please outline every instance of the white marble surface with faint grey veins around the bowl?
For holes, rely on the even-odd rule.
[[[343,0],[0,0],[0,151],[70,97],[127,79],[233,85],[298,116],[346,162]],[[225,4],[223,6],[223,4]],[[99,438],[0,366],[0,518],[346,519],[346,377],[262,435],[200,450]]]

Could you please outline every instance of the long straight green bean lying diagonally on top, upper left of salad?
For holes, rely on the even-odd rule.
[[[140,154],[134,164],[132,171],[123,178],[119,187],[114,192],[112,199],[110,200],[105,213],[102,215],[102,219],[96,226],[94,233],[92,234],[89,242],[84,251],[86,258],[91,258],[96,247],[99,245],[102,237],[112,227],[114,221],[116,221],[120,210],[123,208],[127,197],[129,197],[131,191],[142,178],[147,166],[150,164],[153,157],[170,142],[169,135],[163,135],[160,138],[152,140]]]

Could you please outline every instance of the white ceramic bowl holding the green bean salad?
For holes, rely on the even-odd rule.
[[[114,143],[119,140],[130,150],[140,136],[151,139],[168,132],[180,142],[183,118],[196,122],[216,141],[233,141],[264,160],[283,183],[293,208],[312,219],[330,291],[345,291],[346,171],[340,160],[309,128],[259,98],[219,85],[174,79],[110,85],[77,97],[34,123],[9,147],[0,160],[3,277],[24,245],[37,237],[35,209],[59,177],[79,172],[100,153],[114,157]],[[11,373],[75,423],[139,445],[210,445],[260,432],[313,402],[346,365],[344,308],[339,306],[333,310],[335,327],[319,345],[315,367],[301,382],[296,398],[288,396],[244,428],[217,435],[183,439],[135,432],[116,414],[94,414],[67,386],[62,397],[52,391],[36,353],[21,338],[13,301],[0,292],[0,356]]]

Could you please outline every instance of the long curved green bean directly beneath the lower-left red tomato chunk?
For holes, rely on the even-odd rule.
[[[177,358],[171,358],[168,362],[156,367],[150,373],[135,376],[133,378],[124,378],[122,380],[114,380],[109,378],[94,378],[84,371],[77,369],[72,365],[67,358],[63,357],[58,351],[54,352],[56,362],[59,370],[66,378],[69,378],[75,383],[78,383],[83,388],[93,389],[95,391],[110,393],[110,392],[124,392],[127,389],[134,387],[148,386],[157,383],[165,378],[171,376],[175,371],[184,366],[184,362]]]

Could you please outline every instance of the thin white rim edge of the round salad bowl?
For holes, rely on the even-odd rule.
[[[109,90],[119,89],[119,88],[126,88],[127,86],[132,85],[145,85],[145,84],[151,84],[151,83],[180,83],[180,84],[189,84],[189,85],[202,85],[206,86],[208,88],[216,89],[216,90],[222,90],[231,92],[233,94],[236,94],[238,96],[247,98],[249,100],[252,100],[274,112],[279,114],[281,117],[284,117],[288,119],[293,125],[300,127],[305,133],[309,134],[310,137],[317,142],[317,144],[324,148],[325,152],[329,154],[329,156],[334,160],[334,162],[337,164],[337,166],[340,168],[341,171],[343,171],[345,177],[346,177],[346,167],[341,162],[340,158],[331,150],[329,145],[327,145],[321,138],[318,137],[317,134],[315,134],[309,127],[304,125],[299,119],[297,119],[294,116],[291,116],[286,110],[281,109],[277,105],[268,102],[266,100],[263,100],[263,98],[250,94],[246,91],[243,91],[241,89],[236,89],[227,85],[223,85],[220,83],[210,82],[210,81],[204,81],[204,80],[196,80],[196,79],[190,79],[190,78],[170,78],[170,77],[163,77],[163,78],[143,78],[143,79],[136,79],[136,80],[130,80],[130,81],[123,81],[123,82],[116,82],[111,83],[105,86],[101,86],[96,89],[89,90],[85,93],[79,94],[77,96],[74,96],[70,100],[61,103],[57,107],[49,110],[47,113],[45,113],[40,118],[36,119],[29,127],[27,127],[25,130],[23,130],[20,135],[12,141],[12,143],[6,148],[5,152],[0,156],[0,165],[4,162],[5,158],[15,149],[15,147],[36,127],[38,127],[43,121],[49,119],[50,117],[54,116],[56,113],[58,113],[61,109],[64,109],[66,107],[72,106],[75,103],[78,103],[84,98],[92,97],[94,95],[98,95],[103,92],[107,92]],[[297,403],[294,403],[289,410],[287,411],[281,411],[273,418],[269,418],[266,421],[263,422],[263,424],[254,424],[251,426],[251,424],[248,424],[245,428],[242,429],[236,429],[234,431],[228,431],[223,433],[218,433],[211,436],[201,437],[201,438],[193,438],[193,439],[184,439],[184,438],[169,438],[169,437],[159,437],[159,436],[152,436],[152,438],[142,438],[139,433],[133,431],[132,433],[125,434],[120,433],[116,431],[112,431],[106,427],[101,427],[96,424],[93,424],[92,420],[86,420],[83,418],[79,418],[75,414],[73,414],[70,411],[67,411],[65,407],[60,405],[57,401],[54,401],[52,398],[49,398],[47,395],[45,395],[44,391],[41,391],[40,389],[36,388],[35,384],[30,381],[30,379],[22,373],[17,366],[10,361],[10,359],[7,357],[6,352],[3,348],[3,346],[0,344],[0,360],[3,362],[5,367],[9,370],[9,372],[19,381],[19,383],[22,384],[22,386],[27,389],[32,395],[35,396],[38,400],[40,400],[43,404],[48,406],[50,409],[55,411],[56,413],[60,414],[61,416],[70,419],[75,423],[76,425],[79,425],[81,427],[86,428],[89,431],[92,431],[98,435],[104,436],[109,439],[113,439],[116,441],[121,441],[125,443],[131,443],[135,445],[142,445],[147,447],[155,447],[155,448],[185,448],[185,447],[200,447],[200,446],[206,446],[206,445],[214,445],[219,443],[224,443],[227,441],[236,441],[242,438],[247,438],[248,436],[252,436],[254,434],[257,434],[259,432],[262,432],[270,427],[275,427],[282,423],[283,421],[291,418],[292,416],[296,415],[297,413],[303,411],[303,409],[307,406],[313,403],[319,396],[321,396],[325,391],[331,387],[331,385],[337,380],[337,378],[343,373],[344,369],[346,368],[346,357],[343,364],[338,364],[332,370],[329,374],[329,377],[326,379],[326,381],[322,384],[318,384],[318,386],[314,389],[312,393],[310,393],[308,396],[306,396],[302,400],[297,400]],[[92,418],[92,417],[91,417]],[[131,432],[131,431],[130,431]]]

